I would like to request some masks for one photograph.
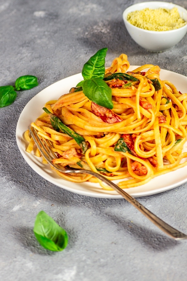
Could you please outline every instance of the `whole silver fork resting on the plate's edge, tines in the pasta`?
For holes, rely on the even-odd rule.
[[[144,214],[148,219],[150,219],[152,223],[154,223],[157,227],[159,227],[170,237],[172,237],[175,240],[187,239],[186,234],[180,232],[179,230],[165,223],[162,219],[158,218],[155,214],[153,214],[151,211],[146,209],[146,207],[144,207],[141,203],[139,203],[135,198],[133,198],[127,192],[119,188],[112,181],[105,178],[103,175],[95,173],[92,170],[82,170],[82,169],[74,169],[74,168],[66,169],[59,164],[52,163],[52,160],[56,158],[56,155],[51,150],[51,146],[52,146],[51,142],[44,138],[39,137],[37,135],[37,131],[33,127],[29,127],[29,130],[34,142],[36,143],[38,149],[41,152],[41,155],[43,155],[43,157],[47,160],[47,162],[51,166],[53,166],[56,170],[62,173],[82,173],[82,174],[89,174],[89,175],[93,175],[94,177],[97,177],[99,180],[102,180],[104,183],[106,183],[114,190],[116,190],[120,195],[122,195],[122,197],[124,197],[129,203],[131,203],[134,207],[136,207],[142,214]]]

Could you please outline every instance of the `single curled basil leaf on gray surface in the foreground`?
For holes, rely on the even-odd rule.
[[[33,231],[41,246],[50,251],[62,251],[68,244],[65,230],[44,211],[37,214]]]

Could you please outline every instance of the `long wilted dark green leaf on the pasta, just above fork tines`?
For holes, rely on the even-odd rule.
[[[88,149],[88,146],[86,144],[84,137],[77,134],[72,129],[64,125],[62,121],[55,114],[52,114],[46,107],[43,107],[43,110],[49,115],[49,119],[54,130],[58,132],[61,130],[63,133],[72,137],[77,142],[77,144],[82,148],[83,153],[85,153],[86,150]]]

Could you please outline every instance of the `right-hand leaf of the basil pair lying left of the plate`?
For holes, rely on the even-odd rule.
[[[38,86],[38,79],[36,76],[32,75],[20,76],[15,82],[16,91],[29,90],[36,86]]]

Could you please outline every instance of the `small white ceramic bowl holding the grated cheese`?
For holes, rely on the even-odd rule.
[[[160,7],[166,9],[172,9],[174,7],[178,8],[180,17],[187,22],[187,10],[181,6],[169,2],[141,2],[128,7],[123,12],[123,20],[132,39],[141,47],[152,52],[165,51],[175,46],[185,36],[187,32],[187,24],[183,27],[169,31],[150,31],[136,27],[127,22],[127,15],[130,12],[145,8],[157,9]]]

